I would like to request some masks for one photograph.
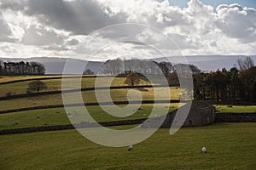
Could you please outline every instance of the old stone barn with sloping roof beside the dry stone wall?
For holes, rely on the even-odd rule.
[[[188,105],[183,105],[179,108],[183,111]],[[162,123],[161,127],[171,127],[174,117],[177,114],[176,111],[172,111],[167,114],[166,119],[164,116],[154,117],[148,119],[143,127],[156,127],[157,124],[163,119],[165,121]],[[189,115],[187,116],[185,122],[183,122],[183,127],[198,127],[210,124],[214,122],[215,119],[215,107],[208,103],[207,101],[193,101],[189,110]]]

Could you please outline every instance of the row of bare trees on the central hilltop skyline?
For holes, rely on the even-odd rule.
[[[165,75],[169,85],[179,86],[179,77],[191,77],[191,74],[201,72],[195,65],[172,64],[171,62],[146,59],[108,59],[100,71],[104,75],[128,75],[131,72],[140,76]],[[177,74],[178,73],[178,74]]]

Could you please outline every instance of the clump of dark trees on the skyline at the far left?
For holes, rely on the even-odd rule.
[[[0,75],[44,75],[44,65],[38,62],[3,62],[0,60]]]

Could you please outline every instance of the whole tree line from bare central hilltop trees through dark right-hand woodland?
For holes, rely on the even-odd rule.
[[[238,59],[235,67],[227,71],[211,71],[205,73],[195,65],[176,64],[162,61],[141,59],[110,59],[102,66],[102,74],[129,75],[139,73],[144,75],[166,76],[169,85],[179,86],[177,75],[192,76],[195,100],[211,100],[222,103],[255,103],[256,102],[256,67],[253,59]],[[131,75],[130,75],[131,77]],[[133,83],[130,83],[133,84]]]

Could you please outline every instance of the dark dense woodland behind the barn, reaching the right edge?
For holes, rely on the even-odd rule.
[[[194,98],[223,103],[256,102],[256,67],[253,60],[237,60],[238,68],[225,68],[209,73],[197,73],[194,79]]]

